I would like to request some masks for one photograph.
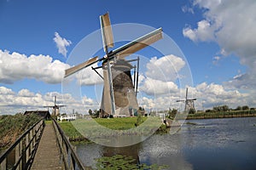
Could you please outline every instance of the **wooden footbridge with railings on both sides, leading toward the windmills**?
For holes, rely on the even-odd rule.
[[[85,169],[73,146],[53,119],[40,120],[23,133],[0,157],[5,169]]]

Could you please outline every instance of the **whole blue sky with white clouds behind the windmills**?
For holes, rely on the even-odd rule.
[[[180,50],[172,53],[160,40],[137,53],[144,57],[138,96],[146,110],[182,107],[176,100],[184,99],[185,88],[197,99],[197,110],[256,107],[255,8],[254,0],[1,0],[0,115],[45,110],[55,95],[57,104],[67,105],[61,112],[98,109],[102,81],[94,71],[81,71],[76,81],[63,77],[67,68],[94,57],[87,55],[93,45],[94,54],[103,55],[101,37],[86,41],[99,36],[99,16],[107,12],[113,31],[116,26],[128,37],[115,38],[113,32],[115,41],[147,32],[134,31],[137,26],[162,27],[164,39]],[[125,23],[135,27],[120,31]],[[156,53],[155,47],[167,53]]]

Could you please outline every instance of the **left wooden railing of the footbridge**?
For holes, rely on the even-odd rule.
[[[26,130],[0,157],[0,169],[28,169],[44,131],[44,119]],[[14,156],[14,155],[15,156]]]

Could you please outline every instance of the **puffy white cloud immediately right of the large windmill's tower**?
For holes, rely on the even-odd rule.
[[[146,64],[146,71],[139,75],[139,91],[151,96],[176,93],[175,81],[181,77],[179,71],[184,65],[184,60],[173,54],[151,58]]]

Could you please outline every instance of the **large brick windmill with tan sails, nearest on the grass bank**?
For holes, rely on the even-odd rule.
[[[147,47],[153,42],[162,38],[162,29],[159,28],[147,35],[125,44],[108,52],[108,48],[113,48],[113,33],[108,13],[100,16],[102,28],[103,49],[106,55],[102,58],[92,58],[88,61],[69,68],[65,72],[65,77],[80,71],[97,62],[102,62],[101,66],[92,69],[102,69],[104,88],[102,93],[102,115],[126,115],[130,116],[138,110],[137,104],[137,85],[132,83],[131,69],[134,68],[130,62],[138,59],[126,60],[125,57]],[[137,65],[138,71],[138,65]],[[138,73],[137,73],[138,78]],[[137,81],[135,81],[137,82]],[[135,92],[136,87],[136,92]]]

